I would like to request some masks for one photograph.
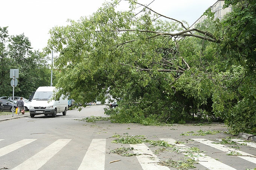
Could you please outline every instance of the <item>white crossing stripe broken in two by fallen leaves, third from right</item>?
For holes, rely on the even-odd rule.
[[[182,148],[184,148],[184,150],[186,148],[190,148],[187,147],[184,144],[177,144],[176,140],[174,139],[160,139],[160,140],[164,140],[166,142],[168,142],[171,145],[175,145],[177,147],[180,147],[181,150]],[[184,155],[187,155],[188,157],[195,159],[195,161],[198,161],[199,164],[203,165],[204,167],[210,169],[210,170],[236,170],[235,168],[230,167],[229,165],[223,164],[222,162],[217,161],[214,158],[211,158],[210,156],[206,156],[203,153],[192,153],[195,156],[190,156],[186,153],[183,153]]]

